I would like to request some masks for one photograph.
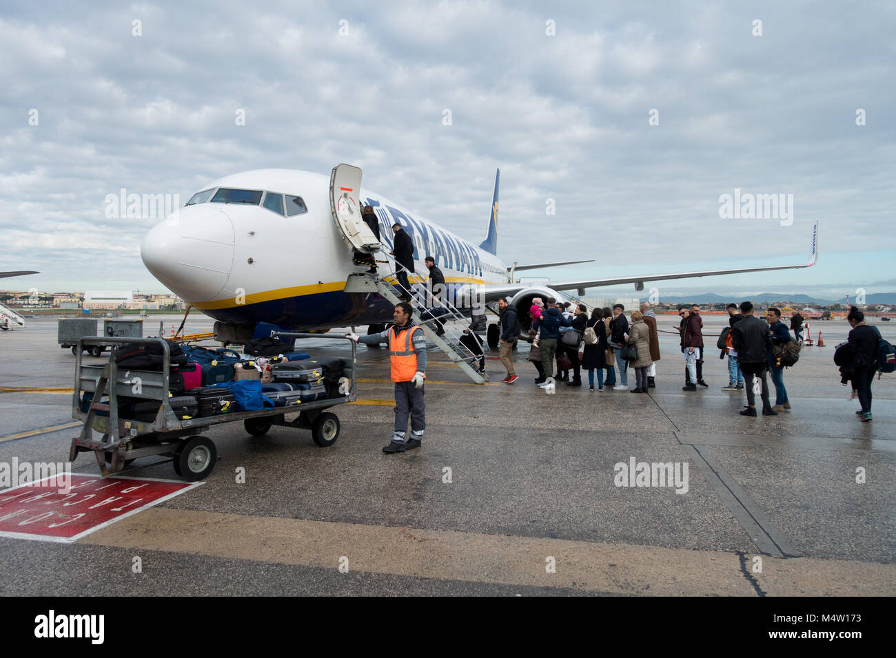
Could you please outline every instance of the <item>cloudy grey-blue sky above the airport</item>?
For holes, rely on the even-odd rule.
[[[158,220],[109,194],[349,162],[476,242],[500,167],[505,261],[597,261],[555,280],[801,262],[817,219],[815,268],[660,290],[896,290],[894,26],[892,2],[7,1],[0,269],[41,274],[0,286],[162,291]],[[792,223],[719,217],[736,188],[792,194]]]

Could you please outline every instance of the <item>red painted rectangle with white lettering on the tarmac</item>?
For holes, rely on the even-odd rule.
[[[71,474],[65,484],[60,474],[0,491],[0,537],[75,542],[200,483]]]

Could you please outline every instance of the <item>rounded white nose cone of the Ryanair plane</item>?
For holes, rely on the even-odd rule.
[[[233,222],[209,204],[178,209],[153,226],[140,245],[146,269],[187,302],[205,302],[220,293],[233,252]]]

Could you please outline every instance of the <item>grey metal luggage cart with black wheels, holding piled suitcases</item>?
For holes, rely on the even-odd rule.
[[[285,338],[321,338],[319,334],[281,333]],[[179,418],[168,404],[170,353],[168,343],[161,338],[80,338],[75,354],[72,417],[82,422],[81,434],[72,439],[69,461],[80,452],[93,452],[103,477],[121,471],[134,459],[152,455],[172,457],[175,472],[188,482],[202,480],[214,468],[218,451],[214,442],[201,432],[211,425],[243,421],[246,432],[263,436],[272,425],[311,430],[314,443],[332,446],[339,438],[340,422],[336,414],[325,409],[357,398],[357,346],[350,338],[351,362],[345,377],[349,380],[346,395],[327,397],[291,406],[265,408],[261,411],[241,411],[229,414]],[[113,347],[125,343],[161,344],[163,363],[160,372],[128,369],[121,372],[116,363],[116,351],[101,365],[82,364],[82,349],[92,346]],[[89,395],[85,395],[89,394]],[[108,396],[108,401],[102,398]],[[125,418],[120,415],[119,397],[139,398],[155,402],[159,411],[151,422]],[[287,414],[298,415],[290,421]],[[94,432],[100,437],[95,438]],[[107,466],[108,463],[108,466]]]

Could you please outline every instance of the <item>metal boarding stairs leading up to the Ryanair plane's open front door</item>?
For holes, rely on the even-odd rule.
[[[346,281],[345,292],[376,293],[377,295],[382,295],[393,304],[401,302],[402,296],[409,297],[411,299],[410,305],[414,309],[411,318],[416,324],[427,329],[426,340],[433,342],[445,355],[448,355],[448,358],[457,363],[457,366],[470,380],[477,384],[486,383],[487,375],[480,375],[473,367],[473,363],[478,362],[480,357],[474,355],[469,347],[461,343],[463,329],[458,329],[457,322],[467,324],[469,319],[447,299],[439,299],[436,295],[429,295],[433,305],[430,308],[426,308],[426,300],[422,300],[424,308],[421,309],[415,303],[421,301],[421,295],[413,289],[409,290],[401,286],[394,273],[389,273],[384,278],[366,272],[351,274]],[[431,311],[435,309],[440,309],[442,314],[434,317]],[[436,335],[439,324],[444,329],[444,335],[442,336]],[[481,338],[479,342],[482,343]]]

